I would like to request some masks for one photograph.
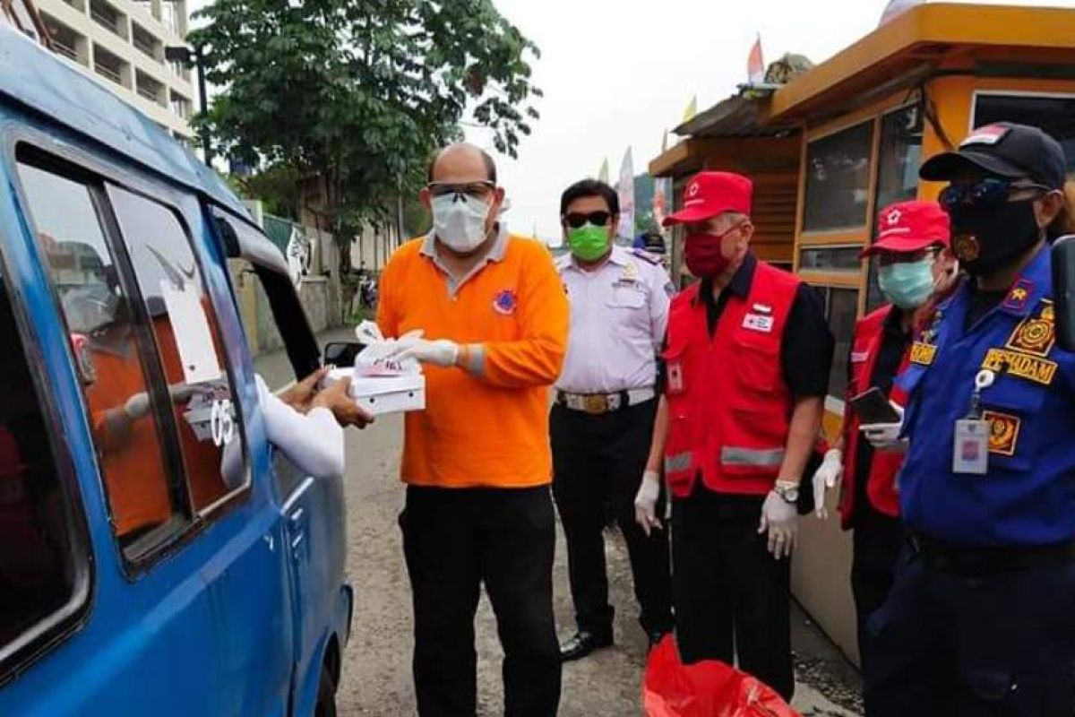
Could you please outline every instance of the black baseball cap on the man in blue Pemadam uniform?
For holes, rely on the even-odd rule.
[[[1007,121],[974,130],[957,152],[931,157],[918,175],[930,182],[948,182],[968,168],[1007,178],[1030,177],[1050,189],[1062,189],[1067,175],[1059,142],[1037,127]]]

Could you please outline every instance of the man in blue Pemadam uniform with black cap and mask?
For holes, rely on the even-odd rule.
[[[901,378],[908,545],[866,626],[868,717],[1075,714],[1075,355],[1056,342],[1045,241],[1065,171],[1056,140],[1007,123],[922,166],[950,183],[971,278]]]

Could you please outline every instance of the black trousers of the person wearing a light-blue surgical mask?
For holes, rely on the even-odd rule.
[[[885,604],[892,589],[895,564],[904,545],[903,526],[899,518],[887,516],[863,503],[855,516],[851,541],[851,593],[855,596],[859,655],[864,671],[872,651],[866,620]]]

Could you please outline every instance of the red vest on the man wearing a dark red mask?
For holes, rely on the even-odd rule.
[[[784,462],[793,399],[780,344],[800,279],[758,261],[745,299],[729,297],[710,338],[694,284],[672,300],[664,352],[664,472],[672,493],[764,496]]]

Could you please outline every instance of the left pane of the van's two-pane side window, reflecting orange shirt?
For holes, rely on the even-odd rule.
[[[152,359],[140,344],[89,187],[25,163],[18,173],[82,377],[113,528],[133,559],[186,522],[186,499],[161,453],[146,374]]]

